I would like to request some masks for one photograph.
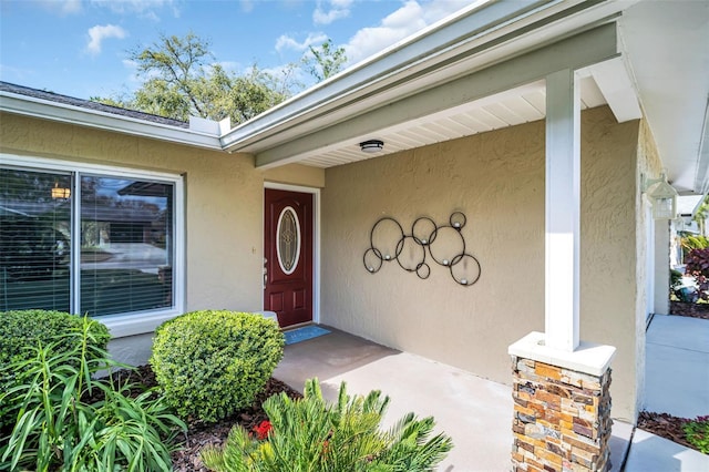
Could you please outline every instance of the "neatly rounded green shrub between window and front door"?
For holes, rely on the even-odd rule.
[[[284,335],[276,321],[205,310],[161,325],[150,362],[178,414],[214,422],[254,402],[282,350]]]

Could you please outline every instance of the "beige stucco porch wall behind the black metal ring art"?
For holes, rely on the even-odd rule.
[[[615,418],[635,418],[638,122],[583,114],[582,338],[616,346]],[[544,330],[544,122],[326,171],[321,320],[384,345],[510,383],[507,347]],[[371,275],[369,232],[392,216],[410,233],[461,211],[482,277],[471,287],[432,265]]]

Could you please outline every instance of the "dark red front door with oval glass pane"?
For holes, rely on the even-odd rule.
[[[266,188],[264,309],[281,327],[312,320],[312,195]]]

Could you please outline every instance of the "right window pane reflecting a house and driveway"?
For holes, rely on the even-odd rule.
[[[173,185],[81,177],[81,311],[173,305]]]

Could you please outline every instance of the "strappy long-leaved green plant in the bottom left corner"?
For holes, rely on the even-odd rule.
[[[154,471],[172,468],[172,440],[185,424],[154,391],[137,398],[133,386],[115,384],[100,371],[125,368],[97,347],[93,324],[83,318],[70,349],[61,341],[28,348],[28,359],[2,366],[25,371],[17,386],[0,394],[0,406],[14,419],[0,438],[0,470]]]

